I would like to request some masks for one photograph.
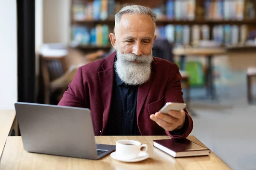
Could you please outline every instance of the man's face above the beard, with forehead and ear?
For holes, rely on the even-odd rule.
[[[137,56],[151,54],[154,35],[154,22],[148,15],[123,14],[116,26],[111,42],[122,54]]]

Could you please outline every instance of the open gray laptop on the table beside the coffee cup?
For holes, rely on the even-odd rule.
[[[115,145],[95,143],[87,108],[17,102],[15,110],[28,152],[100,159],[116,149]]]

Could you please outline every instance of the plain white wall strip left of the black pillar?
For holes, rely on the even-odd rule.
[[[16,0],[0,0],[0,110],[17,102]]]

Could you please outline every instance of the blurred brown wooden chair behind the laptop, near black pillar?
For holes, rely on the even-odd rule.
[[[40,55],[40,62],[41,74],[44,83],[44,103],[50,104],[51,95],[55,91],[55,89],[52,89],[51,87],[51,82],[64,75],[68,70],[66,56],[51,57]],[[58,90],[64,91],[67,89]],[[61,96],[58,96],[57,100],[60,100]]]

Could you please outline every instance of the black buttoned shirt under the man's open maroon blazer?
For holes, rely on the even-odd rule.
[[[114,73],[111,109],[105,135],[107,136],[138,136],[137,125],[137,94],[138,86],[125,85]]]

